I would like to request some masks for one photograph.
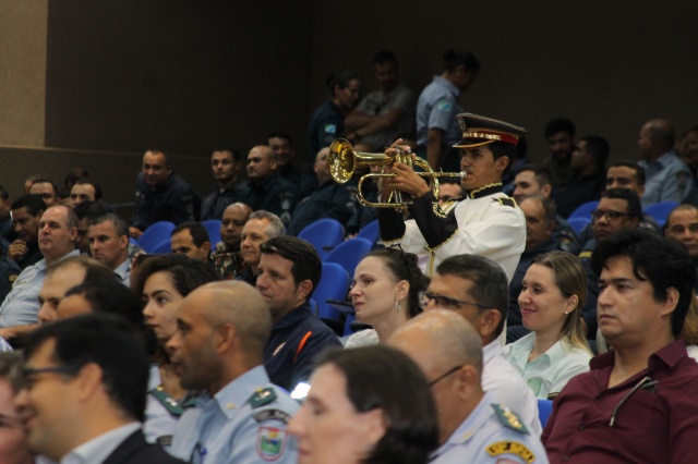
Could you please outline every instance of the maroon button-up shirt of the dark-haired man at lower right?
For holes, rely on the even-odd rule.
[[[698,364],[684,342],[609,388],[614,362],[613,351],[594,357],[555,400],[541,437],[551,464],[698,462]]]

